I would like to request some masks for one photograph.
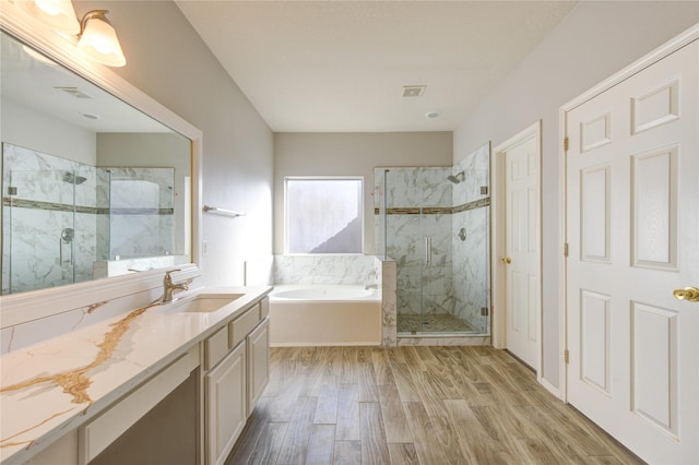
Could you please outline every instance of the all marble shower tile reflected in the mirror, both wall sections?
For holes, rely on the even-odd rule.
[[[8,143],[2,160],[2,294],[93,279],[93,264],[115,255],[174,253],[174,168],[96,168]],[[127,178],[149,182],[155,210],[128,208],[143,189],[110,192],[111,179]],[[73,239],[61,240],[70,229]]]

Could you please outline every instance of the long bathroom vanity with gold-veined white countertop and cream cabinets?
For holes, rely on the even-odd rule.
[[[270,290],[187,291],[3,355],[1,463],[223,463],[269,378]]]

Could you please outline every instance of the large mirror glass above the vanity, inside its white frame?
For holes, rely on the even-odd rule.
[[[2,32],[2,294],[191,261],[191,141]]]

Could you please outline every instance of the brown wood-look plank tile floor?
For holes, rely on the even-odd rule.
[[[227,464],[635,464],[490,347],[271,350]]]

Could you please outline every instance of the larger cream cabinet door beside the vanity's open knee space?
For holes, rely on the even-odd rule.
[[[246,344],[205,375],[206,463],[223,464],[247,420]]]

